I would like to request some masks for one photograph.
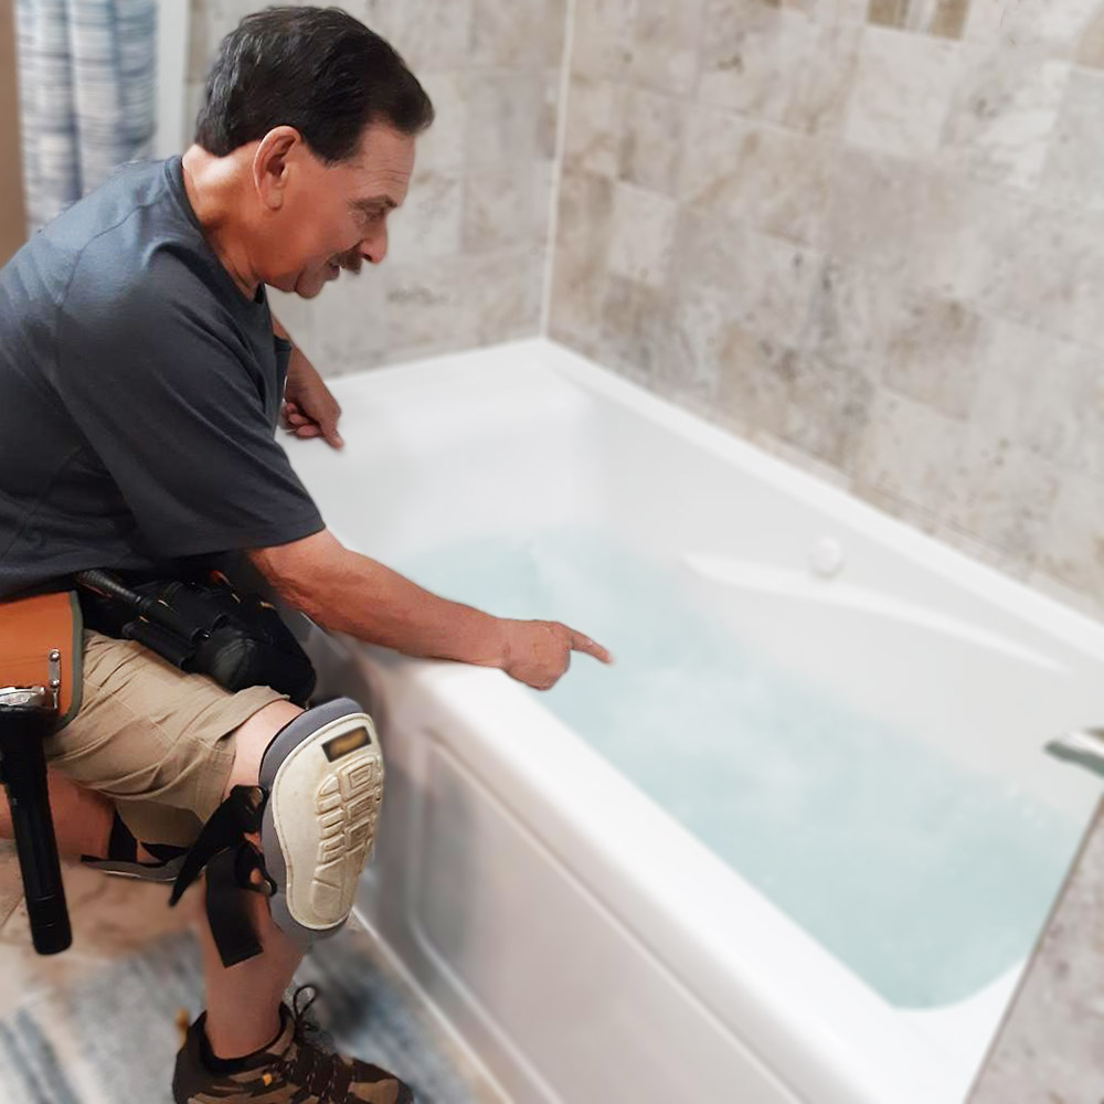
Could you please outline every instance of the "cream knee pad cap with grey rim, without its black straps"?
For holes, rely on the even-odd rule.
[[[349,698],[301,713],[261,760],[261,847],[273,920],[305,946],[348,920],[383,797],[372,719]]]

